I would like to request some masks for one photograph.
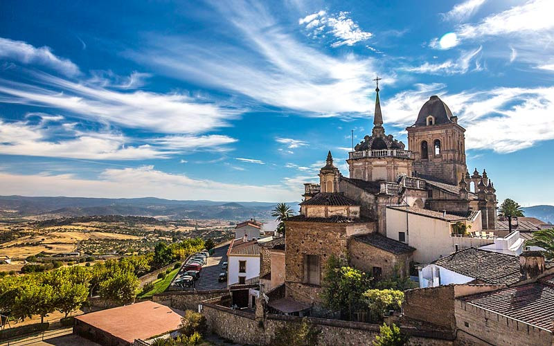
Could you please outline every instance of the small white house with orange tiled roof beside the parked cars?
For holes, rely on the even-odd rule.
[[[234,239],[227,251],[227,286],[246,284],[260,277],[260,246],[248,235]]]

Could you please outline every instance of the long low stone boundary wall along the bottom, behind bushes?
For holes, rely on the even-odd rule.
[[[247,345],[271,345],[271,339],[279,327],[287,323],[303,320],[296,316],[281,316],[268,314],[265,320],[256,320],[253,313],[232,310],[214,304],[218,299],[202,302],[202,314],[206,317],[208,328],[213,333],[233,340],[234,343]],[[380,325],[350,322],[341,320],[325,320],[323,318],[306,318],[319,329],[319,345],[371,345],[379,334]],[[411,335],[410,345],[446,346],[453,345],[454,336],[440,331],[422,331],[402,328],[404,333]]]

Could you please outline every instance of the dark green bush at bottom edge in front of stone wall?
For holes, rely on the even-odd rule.
[[[278,327],[271,345],[275,346],[314,346],[318,343],[319,330],[307,320],[285,323]]]

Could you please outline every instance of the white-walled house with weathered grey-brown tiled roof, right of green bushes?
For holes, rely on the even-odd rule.
[[[545,269],[554,272],[554,262],[545,262]],[[421,288],[465,283],[511,285],[522,280],[520,257],[466,248],[420,268],[419,280]]]

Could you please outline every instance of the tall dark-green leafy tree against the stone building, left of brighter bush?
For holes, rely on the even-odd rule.
[[[330,257],[323,277],[323,306],[332,311],[340,311],[342,318],[352,320],[352,313],[365,307],[363,295],[369,287],[370,279],[366,273],[341,266],[339,260]]]

